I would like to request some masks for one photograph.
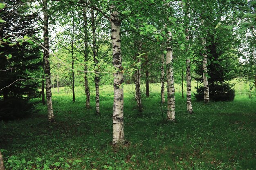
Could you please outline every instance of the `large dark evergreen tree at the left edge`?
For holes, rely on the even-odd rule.
[[[11,36],[23,38],[25,35],[34,37],[38,34],[34,25],[36,15],[27,11],[28,7],[22,0],[9,0],[6,3],[8,8],[0,11],[2,19],[6,21],[0,26],[0,38],[7,36],[5,39],[8,40],[0,46],[0,89],[3,88],[0,91],[0,119],[15,118],[31,112],[29,108],[32,104],[28,103],[28,99],[39,94],[39,84],[38,80],[29,79],[40,77],[42,65],[38,46],[21,43]]]

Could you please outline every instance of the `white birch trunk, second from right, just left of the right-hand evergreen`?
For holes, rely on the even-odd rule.
[[[190,52],[189,52],[189,29],[186,29],[186,41],[187,45],[187,53],[186,57],[186,106],[189,114],[193,114],[192,108],[192,100],[191,100],[191,73],[190,73]]]

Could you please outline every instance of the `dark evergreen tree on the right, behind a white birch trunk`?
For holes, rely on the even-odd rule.
[[[227,36],[231,37],[230,31],[225,31]],[[228,42],[229,39],[222,38],[222,32],[214,32],[208,36],[207,57],[208,57],[208,83],[209,95],[212,101],[232,101],[235,98],[233,85],[228,81],[234,79],[237,75],[238,57],[235,54],[234,46]],[[234,42],[234,41],[233,41]],[[196,63],[196,74],[202,75],[202,62]],[[202,76],[195,78],[198,82],[203,82]],[[198,86],[195,98],[198,101],[204,100],[204,87]]]

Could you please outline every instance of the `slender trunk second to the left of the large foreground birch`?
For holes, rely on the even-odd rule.
[[[84,39],[84,45],[85,45],[85,51],[84,51],[84,85],[85,85],[85,95],[86,95],[86,108],[90,108],[90,89],[89,89],[89,84],[88,84],[88,78],[87,78],[87,71],[88,68],[86,66],[86,62],[88,62],[88,22],[87,22],[87,16],[86,16],[86,9],[83,7],[83,22],[84,22],[84,34],[85,34],[85,39]]]

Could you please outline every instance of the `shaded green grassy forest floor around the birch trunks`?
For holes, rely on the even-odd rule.
[[[159,88],[159,87],[155,87]],[[162,120],[160,94],[150,93],[138,113],[134,97],[124,97],[128,144],[111,146],[112,88],[100,91],[101,116],[85,109],[82,89],[53,93],[56,121],[47,122],[47,106],[26,119],[0,122],[0,149],[7,170],[256,170],[256,97],[237,94],[233,102],[193,101],[176,93],[176,123]],[[39,100],[39,99],[36,99]],[[163,106],[164,116],[166,104]]]

